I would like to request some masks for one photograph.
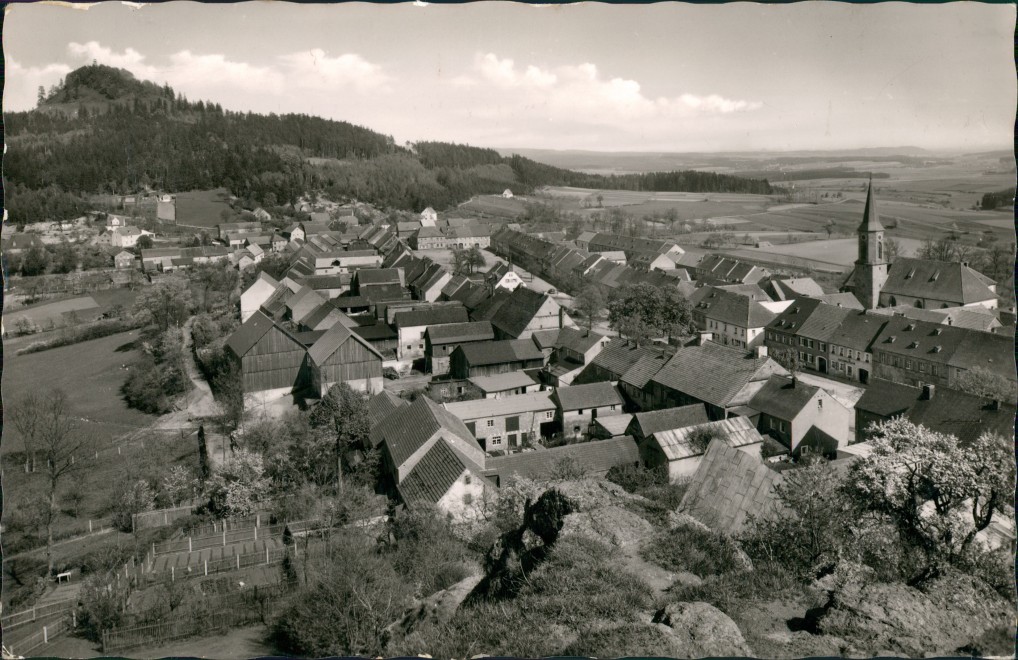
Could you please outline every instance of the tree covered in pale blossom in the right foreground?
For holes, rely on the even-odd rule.
[[[1012,443],[984,433],[962,447],[954,436],[902,418],[872,430],[872,453],[848,476],[851,501],[885,516],[915,551],[913,581],[963,561],[975,535],[1013,502]]]

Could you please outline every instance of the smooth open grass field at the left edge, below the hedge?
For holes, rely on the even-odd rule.
[[[127,407],[120,396],[120,386],[127,378],[121,367],[140,355],[135,347],[138,335],[136,330],[123,332],[25,355],[14,354],[8,347],[4,402],[10,405],[23,392],[61,388],[81,416],[84,428],[106,445],[116,436],[148,426],[155,418]],[[23,449],[14,436],[8,427],[0,453]]]

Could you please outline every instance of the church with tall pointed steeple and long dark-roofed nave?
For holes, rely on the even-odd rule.
[[[997,307],[997,283],[967,263],[899,257],[888,265],[872,181],[857,232],[859,256],[841,290],[854,293],[863,309],[901,305],[927,310]]]

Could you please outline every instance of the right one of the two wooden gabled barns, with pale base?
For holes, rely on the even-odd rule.
[[[382,353],[342,323],[329,328],[307,349],[308,382],[321,396],[333,385],[382,391]]]

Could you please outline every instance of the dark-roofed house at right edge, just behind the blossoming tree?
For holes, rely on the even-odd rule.
[[[1013,437],[1015,403],[931,384],[913,387],[873,380],[855,404],[857,439],[869,440],[873,424],[898,417],[968,444],[986,432]]]

